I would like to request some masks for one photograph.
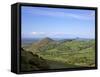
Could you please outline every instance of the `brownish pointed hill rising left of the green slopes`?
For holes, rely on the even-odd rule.
[[[53,48],[56,45],[56,42],[51,39],[51,38],[43,38],[42,40],[33,43],[28,50],[32,51],[33,53],[35,52],[40,52],[46,50],[46,48]]]

